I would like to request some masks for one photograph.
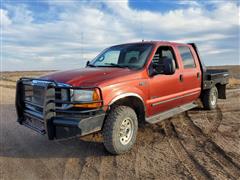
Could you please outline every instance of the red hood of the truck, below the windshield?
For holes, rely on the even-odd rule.
[[[98,86],[100,83],[109,82],[119,79],[123,76],[132,76],[129,78],[136,79],[137,71],[127,68],[81,68],[67,71],[57,71],[44,76],[41,79],[54,80],[59,83],[70,84],[72,86]],[[128,78],[128,80],[130,80]],[[117,83],[115,81],[115,83]]]

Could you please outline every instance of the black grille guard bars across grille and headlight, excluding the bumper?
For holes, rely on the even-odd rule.
[[[34,81],[38,81],[40,83],[34,83]],[[36,104],[34,102],[28,101],[25,98],[25,88],[24,86],[40,86],[44,88],[43,90],[43,104]],[[57,89],[97,89],[100,95],[100,101],[66,101],[66,100],[58,100],[56,99],[55,90]],[[79,109],[79,110],[71,110],[71,109],[61,109],[57,108],[56,104],[93,104],[93,103],[101,103],[101,107],[97,109]],[[30,108],[32,107],[32,108]],[[72,87],[72,86],[63,86],[62,84],[58,84],[53,80],[43,80],[37,78],[27,78],[23,77],[17,81],[16,88],[16,110],[18,115],[18,122],[29,128],[38,131],[41,134],[48,134],[49,139],[54,139],[55,130],[53,125],[53,119],[57,118],[65,118],[70,120],[79,120],[80,117],[89,116],[89,115],[97,115],[103,112],[103,101],[102,101],[102,93],[101,89],[98,87]],[[38,109],[38,111],[36,110]],[[40,110],[40,111],[39,111]],[[31,126],[26,123],[26,118],[32,118],[38,120],[39,123],[42,123],[44,128],[39,128],[35,126]]]

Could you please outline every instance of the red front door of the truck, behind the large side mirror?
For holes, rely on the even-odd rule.
[[[160,46],[152,59],[152,63],[154,63],[154,61],[161,61],[163,56],[175,60],[176,71],[173,75],[159,74],[150,77],[149,100],[147,102],[150,116],[181,104],[181,100],[178,98],[179,93],[182,91],[182,83],[179,81],[181,71],[173,47]]]

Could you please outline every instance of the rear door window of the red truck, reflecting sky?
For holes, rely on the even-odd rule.
[[[180,55],[182,57],[184,68],[185,69],[187,69],[187,68],[195,68],[196,64],[195,64],[195,61],[193,59],[191,50],[188,47],[186,47],[186,46],[179,46],[178,50],[179,50]]]

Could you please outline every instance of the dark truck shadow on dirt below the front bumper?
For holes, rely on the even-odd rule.
[[[24,138],[24,137],[22,137]],[[48,141],[47,137],[28,138],[28,143],[5,143],[0,156],[12,158],[81,158],[109,156],[101,142],[85,141],[79,138],[61,142]],[[6,138],[8,141],[8,138]],[[13,144],[14,143],[14,144]],[[23,144],[24,143],[24,144]]]

